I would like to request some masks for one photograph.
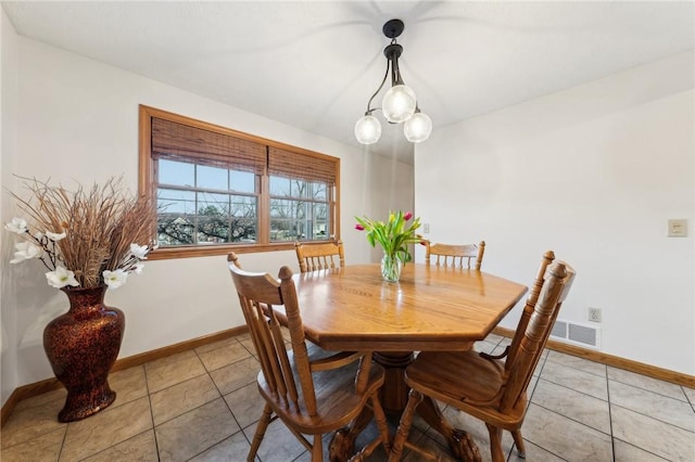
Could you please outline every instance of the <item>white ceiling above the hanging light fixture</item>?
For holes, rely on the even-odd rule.
[[[692,50],[694,5],[2,2],[22,36],[356,146],[354,124],[386,70],[388,20],[405,23],[403,79],[437,130]],[[363,149],[413,163],[401,126],[382,126]]]

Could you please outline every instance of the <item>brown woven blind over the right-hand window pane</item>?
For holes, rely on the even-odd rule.
[[[268,175],[321,181],[334,185],[338,159],[324,158],[270,146],[268,151]]]

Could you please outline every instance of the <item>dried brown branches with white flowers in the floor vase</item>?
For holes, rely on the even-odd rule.
[[[12,195],[34,223],[14,218],[5,226],[24,239],[15,244],[12,262],[39,258],[49,269],[49,284],[59,288],[103,283],[115,288],[142,270],[156,224],[150,197],[130,195],[123,179],[113,177],[72,192],[36,179],[24,184],[28,198]]]

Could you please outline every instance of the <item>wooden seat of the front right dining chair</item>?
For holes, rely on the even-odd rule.
[[[504,383],[504,361],[485,359],[478,351],[422,351],[405,370],[405,383],[501,428],[513,431],[523,421],[526,393],[514,409],[501,412],[502,394],[496,396],[495,392],[502,389]],[[471,401],[470,406],[467,400]],[[490,405],[480,406],[485,401]]]

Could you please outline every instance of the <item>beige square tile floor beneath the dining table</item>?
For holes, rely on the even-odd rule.
[[[493,335],[476,348],[497,352],[507,343]],[[241,335],[115,372],[116,401],[79,422],[58,422],[62,389],[24,400],[1,431],[0,460],[243,461],[263,406],[252,352]],[[529,395],[522,427],[528,461],[695,461],[694,389],[546,350]],[[472,434],[489,461],[484,425],[452,409],[444,413]],[[451,459],[421,421],[409,438]],[[509,461],[519,460],[506,433],[503,445]],[[406,452],[404,460],[415,455]],[[279,421],[270,424],[258,459],[309,460]],[[383,450],[370,460],[386,460]]]

